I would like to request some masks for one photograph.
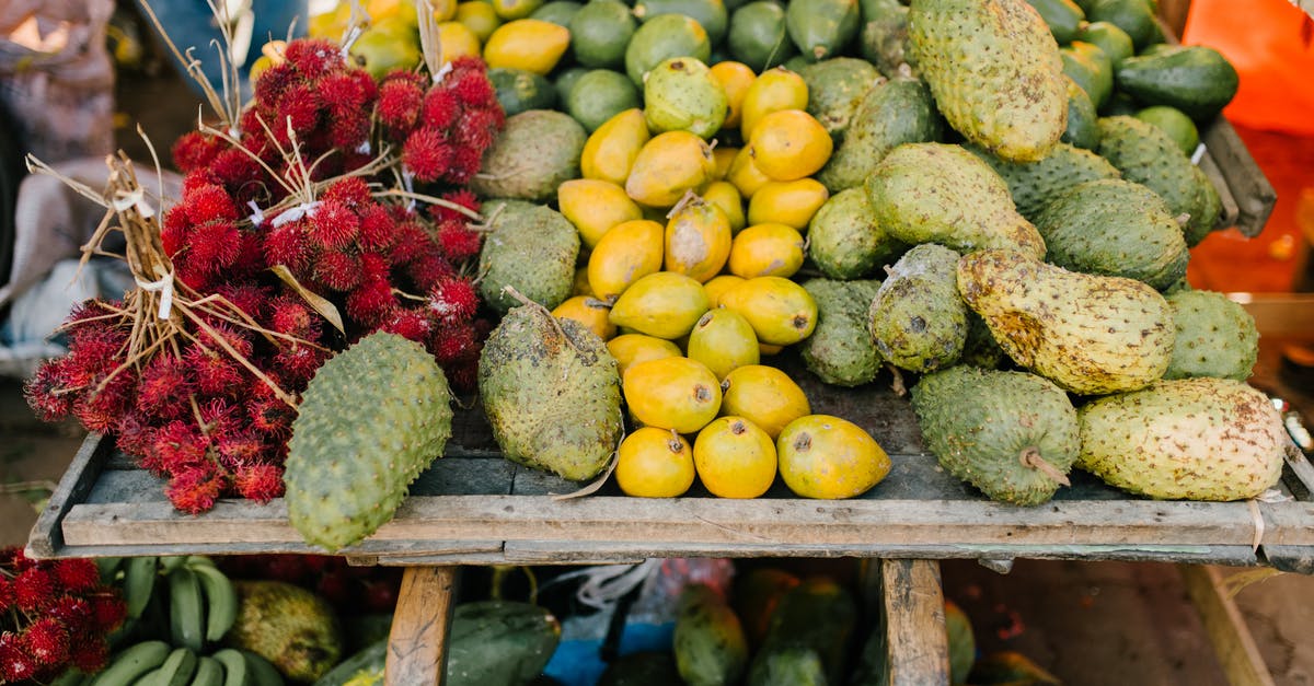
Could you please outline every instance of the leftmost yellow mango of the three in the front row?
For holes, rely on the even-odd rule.
[[[641,427],[616,449],[616,485],[625,495],[675,498],[694,485],[695,473],[689,442],[668,428]]]

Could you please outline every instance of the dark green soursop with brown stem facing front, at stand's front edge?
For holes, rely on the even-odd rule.
[[[991,499],[1041,505],[1068,485],[1081,448],[1067,393],[1026,372],[958,365],[912,389],[926,447]]]

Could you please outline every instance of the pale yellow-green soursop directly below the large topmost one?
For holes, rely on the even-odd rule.
[[[1017,213],[1008,184],[962,146],[904,143],[876,164],[863,187],[876,222],[909,246],[1045,256],[1045,239]]]

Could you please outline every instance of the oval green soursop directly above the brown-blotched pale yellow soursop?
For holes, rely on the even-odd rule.
[[[1181,225],[1154,191],[1121,179],[1077,184],[1035,218],[1051,264],[1163,290],[1187,275]]]

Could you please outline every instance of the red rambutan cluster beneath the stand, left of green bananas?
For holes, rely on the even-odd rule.
[[[0,683],[47,683],[105,666],[106,636],[127,616],[91,560],[32,560],[0,549]]]

